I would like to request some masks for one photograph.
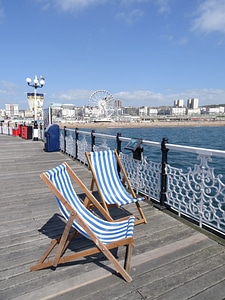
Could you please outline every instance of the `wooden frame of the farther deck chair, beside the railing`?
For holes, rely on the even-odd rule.
[[[112,150],[106,150],[106,151],[112,151]],[[139,216],[135,215],[135,217],[136,217],[135,225],[141,224],[141,223],[145,223],[146,224],[147,220],[145,218],[144,212],[143,212],[143,210],[142,210],[142,208],[140,206],[140,203],[139,203],[139,200],[145,200],[146,197],[137,198],[137,195],[135,194],[135,192],[134,192],[134,190],[133,190],[133,188],[131,186],[130,180],[129,180],[128,176],[127,176],[127,173],[126,173],[126,171],[124,169],[124,166],[123,166],[123,164],[122,164],[122,162],[120,160],[120,157],[119,157],[117,151],[113,150],[113,152],[114,152],[115,159],[116,159],[116,162],[117,162],[117,167],[119,168],[119,170],[123,174],[123,183],[119,182],[118,184],[122,184],[122,185],[126,184],[127,185],[128,193],[130,193],[131,196],[133,197],[133,199],[134,199],[133,202],[135,203],[135,205],[137,207],[137,210],[139,212]],[[110,205],[112,205],[112,204],[107,203],[106,198],[105,198],[105,196],[103,194],[103,191],[102,191],[102,189],[100,187],[99,181],[98,181],[97,176],[96,176],[95,168],[94,168],[94,166],[92,164],[92,161],[91,161],[91,152],[85,152],[85,155],[86,155],[86,158],[87,158],[87,161],[88,161],[89,168],[90,168],[91,173],[92,173],[92,181],[91,181],[90,190],[91,190],[91,192],[93,192],[94,191],[94,187],[96,185],[97,191],[98,191],[99,196],[100,196],[100,201],[102,203],[102,206],[104,207],[104,209],[106,210],[106,212],[109,214],[108,207],[110,207]],[[87,202],[85,204],[87,205]],[[115,204],[119,206],[118,203],[115,203]]]

